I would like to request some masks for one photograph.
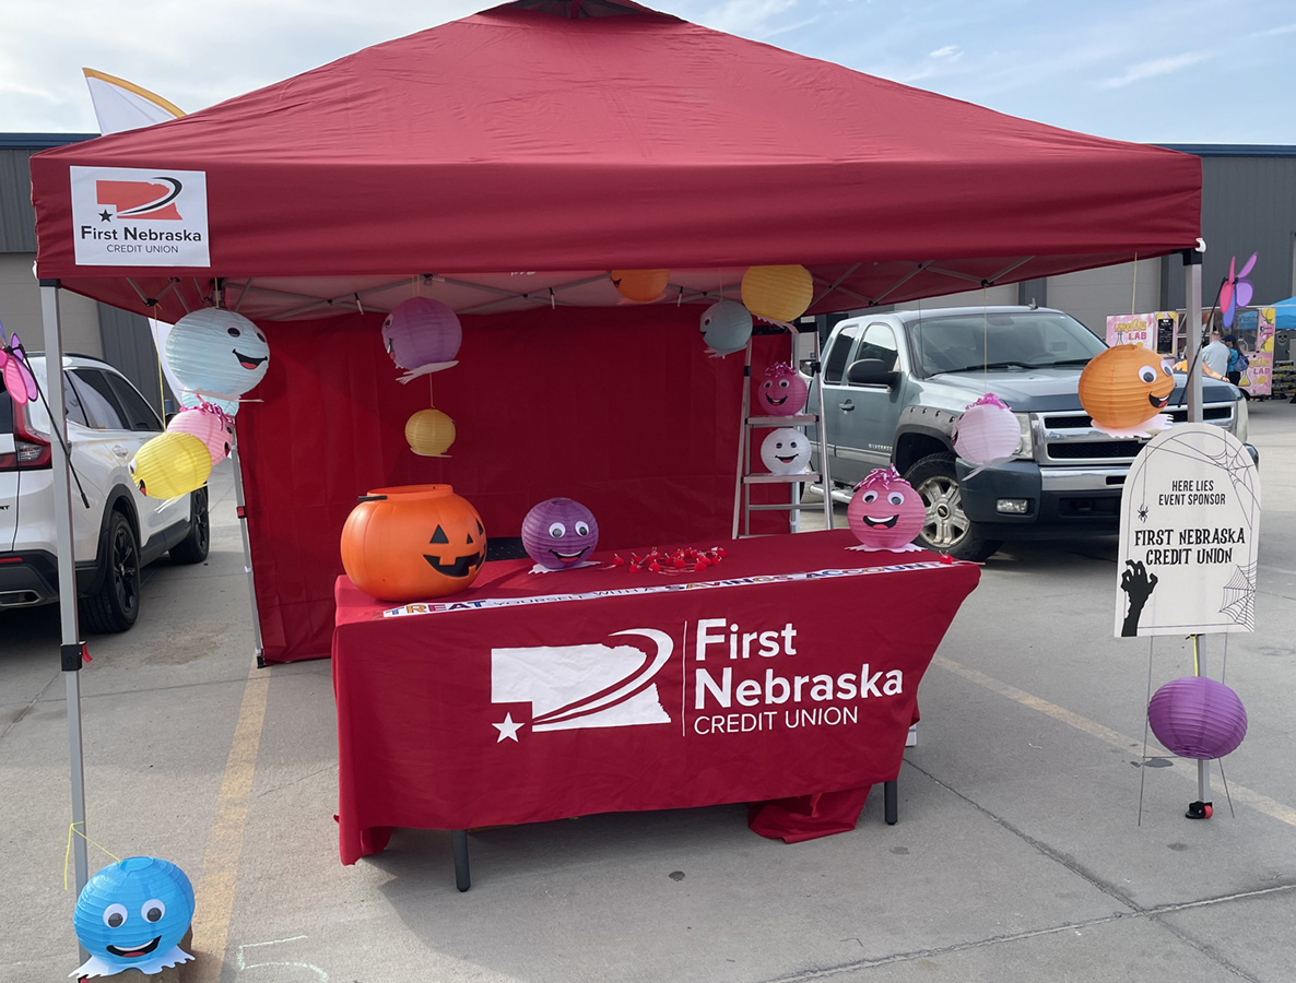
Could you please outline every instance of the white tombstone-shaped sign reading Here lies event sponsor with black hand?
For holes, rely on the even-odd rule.
[[[1125,479],[1116,636],[1255,631],[1258,531],[1242,442],[1208,424],[1159,434]]]

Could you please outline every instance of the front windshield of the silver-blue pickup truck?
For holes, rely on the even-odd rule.
[[[910,337],[927,376],[1076,367],[1107,347],[1074,317],[1056,311],[933,312],[910,325]]]

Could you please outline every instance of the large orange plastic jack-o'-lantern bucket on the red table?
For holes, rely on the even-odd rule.
[[[448,484],[402,484],[360,497],[342,526],[342,567],[378,601],[463,591],[481,572],[486,530]]]

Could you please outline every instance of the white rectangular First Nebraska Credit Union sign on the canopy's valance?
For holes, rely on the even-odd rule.
[[[211,266],[205,171],[69,170],[78,266]]]

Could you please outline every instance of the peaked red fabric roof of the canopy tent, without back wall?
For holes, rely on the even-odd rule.
[[[210,267],[78,266],[71,166],[205,172]],[[612,304],[612,268],[701,299],[766,263],[851,310],[1191,247],[1201,176],[625,0],[522,0],[38,154],[32,185],[40,277],[171,317],[220,277],[283,317],[419,275],[457,310]]]

